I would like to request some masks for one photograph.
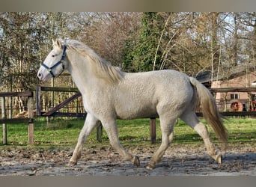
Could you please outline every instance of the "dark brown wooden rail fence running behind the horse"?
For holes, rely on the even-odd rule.
[[[36,105],[36,116],[43,116],[43,117],[86,117],[86,113],[70,113],[70,112],[59,112],[61,108],[68,105],[74,99],[77,99],[81,96],[81,93],[78,92],[76,88],[51,88],[51,87],[40,87],[37,86],[36,96],[35,96],[35,105]],[[42,111],[41,105],[41,93],[42,91],[56,91],[56,92],[73,92],[74,95],[70,96],[70,98],[64,100],[60,104],[56,105],[54,108],[51,108],[49,111]],[[210,91],[214,93],[218,92],[254,92],[256,88],[216,88],[210,89]],[[28,118],[23,119],[7,119],[5,114],[5,106],[4,106],[4,99],[7,96],[28,96]],[[7,144],[7,130],[6,130],[6,123],[24,123],[28,122],[28,144],[34,143],[34,116],[33,116],[33,92],[26,91],[26,92],[16,92],[16,93],[0,93],[0,97],[2,98],[1,108],[2,109],[2,119],[0,123],[3,123],[3,133],[4,133],[4,144]],[[196,113],[198,117],[202,117],[201,112]],[[228,111],[228,112],[221,112],[223,116],[256,116],[256,111]],[[156,118],[158,115],[155,116],[148,116],[146,118],[150,119],[150,140],[152,144],[156,143]],[[97,140],[101,141],[101,137],[103,135],[103,127],[101,124],[97,125]]]

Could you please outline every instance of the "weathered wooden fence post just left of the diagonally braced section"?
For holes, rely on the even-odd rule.
[[[33,97],[28,96],[28,144],[34,144]]]

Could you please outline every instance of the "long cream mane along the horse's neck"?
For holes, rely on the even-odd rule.
[[[89,63],[91,64],[91,70],[94,71],[95,76],[100,79],[104,79],[107,82],[119,82],[123,76],[120,67],[113,67],[108,61],[100,58],[93,49],[76,40],[65,40],[62,41],[64,45],[67,46],[67,49],[73,49],[84,57],[91,59]]]

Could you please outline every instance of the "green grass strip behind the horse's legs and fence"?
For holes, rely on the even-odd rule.
[[[202,120],[205,123],[204,120]],[[229,132],[229,143],[236,144],[247,142],[256,145],[256,119],[253,118],[229,118],[224,121]],[[33,147],[74,147],[80,130],[84,124],[81,118],[54,118],[49,126],[46,118],[36,118],[34,121],[34,145]],[[150,120],[118,120],[119,138],[125,145],[151,145],[150,144]],[[217,142],[210,125],[210,136],[213,142]],[[2,129],[2,125],[0,125]],[[7,124],[7,146],[3,145],[3,135],[0,133],[1,147],[27,146],[28,125],[26,123]],[[159,120],[156,120],[156,145],[161,143],[161,131]],[[96,129],[88,137],[85,147],[96,144],[108,144],[106,132],[103,131],[103,142],[96,139]],[[181,120],[177,120],[174,126],[173,144],[203,144],[201,137]]]

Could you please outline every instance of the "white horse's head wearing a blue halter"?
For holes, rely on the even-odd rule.
[[[67,69],[67,46],[62,45],[60,40],[52,40],[52,44],[52,51],[49,52],[37,73],[37,77],[43,82],[61,75]]]

